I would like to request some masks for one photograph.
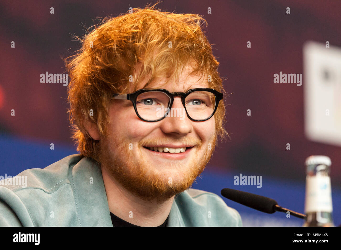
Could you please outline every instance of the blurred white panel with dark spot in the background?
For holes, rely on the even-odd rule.
[[[341,146],[341,48],[306,42],[303,70],[305,134]]]

